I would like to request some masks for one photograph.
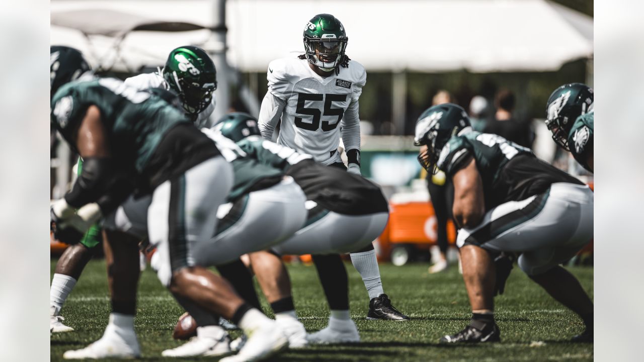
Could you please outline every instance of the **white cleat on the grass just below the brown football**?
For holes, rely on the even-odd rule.
[[[161,352],[164,357],[223,356],[231,353],[231,339],[218,325],[197,327],[196,337],[180,345]]]

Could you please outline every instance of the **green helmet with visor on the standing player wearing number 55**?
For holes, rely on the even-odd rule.
[[[345,27],[330,14],[318,14],[304,28],[304,49],[308,62],[323,71],[339,66],[346,50]]]

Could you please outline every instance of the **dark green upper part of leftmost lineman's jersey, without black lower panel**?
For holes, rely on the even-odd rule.
[[[97,106],[115,159],[142,173],[169,129],[189,124],[184,113],[147,91],[113,78],[70,82],[52,98],[51,122],[74,147],[73,133],[90,106]]]

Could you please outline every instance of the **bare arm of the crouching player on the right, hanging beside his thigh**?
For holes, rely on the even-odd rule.
[[[480,224],[485,214],[483,182],[474,157],[452,176],[454,184],[454,218],[460,227],[471,229]]]

